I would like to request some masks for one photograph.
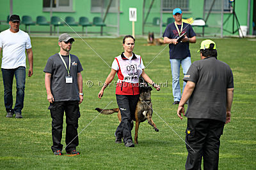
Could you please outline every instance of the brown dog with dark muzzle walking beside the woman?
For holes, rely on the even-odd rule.
[[[148,83],[140,76],[140,98],[136,105],[135,110],[135,136],[134,143],[138,144],[138,130],[141,122],[148,120],[148,124],[152,125],[155,131],[159,131],[157,129],[156,124],[152,120],[152,102],[151,102],[151,90],[152,88],[148,86]],[[119,108],[114,108],[110,110],[102,110],[100,108],[95,108],[95,110],[101,112],[104,115],[111,115],[115,112],[118,112],[117,117],[119,122],[121,122],[122,117]],[[131,122],[131,126],[133,127],[133,121]]]

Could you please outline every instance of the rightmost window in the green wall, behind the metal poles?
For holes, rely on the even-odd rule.
[[[224,11],[230,11],[231,3],[227,0],[224,1]],[[205,0],[205,11],[209,11],[212,6],[212,0]],[[212,6],[212,11],[221,11],[222,0],[215,0]]]

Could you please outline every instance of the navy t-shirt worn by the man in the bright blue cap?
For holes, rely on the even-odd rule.
[[[179,30],[181,29],[181,25],[177,25]],[[183,34],[184,32],[187,32],[186,36],[188,38],[191,38],[193,36],[196,36],[195,32],[193,31],[193,28],[190,24],[186,24],[183,22],[183,30],[180,33]],[[167,37],[170,39],[177,39],[179,38],[179,32],[177,31],[174,22],[171,24],[168,24],[163,37]],[[190,57],[190,51],[189,51],[189,43],[177,43],[177,45],[170,44],[170,59],[185,59],[186,57]]]

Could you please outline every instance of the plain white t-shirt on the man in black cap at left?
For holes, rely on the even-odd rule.
[[[0,47],[3,50],[1,66],[3,69],[26,67],[25,49],[32,47],[28,33],[21,30],[13,33],[10,29],[6,29],[0,33]]]

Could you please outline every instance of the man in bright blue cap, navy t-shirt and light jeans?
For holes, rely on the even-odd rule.
[[[168,24],[164,34],[164,43],[169,44],[170,63],[172,69],[172,93],[173,104],[179,104],[181,98],[180,92],[180,64],[185,75],[191,65],[191,56],[189,51],[189,43],[196,43],[196,34],[190,24],[182,22],[182,11],[180,8],[173,10],[173,18],[175,22]],[[177,39],[184,32],[186,36],[178,42]],[[183,81],[183,90],[186,86],[186,82]]]

